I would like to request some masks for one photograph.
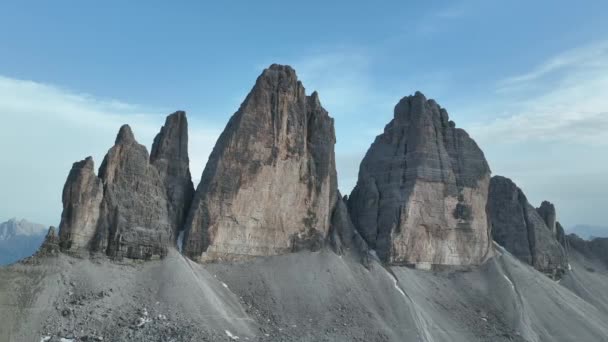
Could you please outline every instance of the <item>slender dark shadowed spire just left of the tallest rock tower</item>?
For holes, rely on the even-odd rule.
[[[186,113],[175,112],[154,138],[150,163],[158,170],[165,184],[169,201],[169,221],[175,237],[183,228],[194,186],[188,158],[188,121]]]

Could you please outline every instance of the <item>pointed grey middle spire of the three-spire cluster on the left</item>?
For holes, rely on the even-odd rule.
[[[149,163],[145,146],[131,128],[120,128],[99,177],[104,184],[94,249],[112,257],[149,259],[166,254],[170,243],[167,195],[158,171]]]

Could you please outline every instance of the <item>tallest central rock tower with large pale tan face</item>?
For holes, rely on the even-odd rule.
[[[272,65],[217,141],[186,223],[195,260],[318,249],[336,201],[333,119]]]

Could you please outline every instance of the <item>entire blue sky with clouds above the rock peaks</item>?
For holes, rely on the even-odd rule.
[[[0,221],[58,225],[73,162],[188,113],[200,179],[256,77],[292,65],[335,119],[339,187],[422,91],[558,220],[606,225],[608,2],[2,1]]]

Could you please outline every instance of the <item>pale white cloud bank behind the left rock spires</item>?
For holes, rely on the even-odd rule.
[[[0,135],[0,219],[58,224],[71,164],[91,155],[99,166],[124,123],[149,149],[169,112],[0,76],[0,117],[7,127]],[[200,177],[218,135],[219,129],[190,117],[194,178]]]

